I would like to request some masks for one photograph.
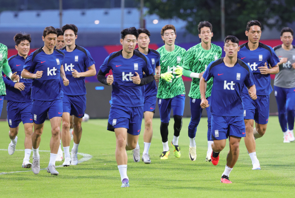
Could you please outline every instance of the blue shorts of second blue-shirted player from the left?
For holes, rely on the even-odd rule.
[[[55,99],[52,101],[33,100],[31,110],[33,121],[36,124],[43,124],[47,118],[62,116],[62,99]]]

